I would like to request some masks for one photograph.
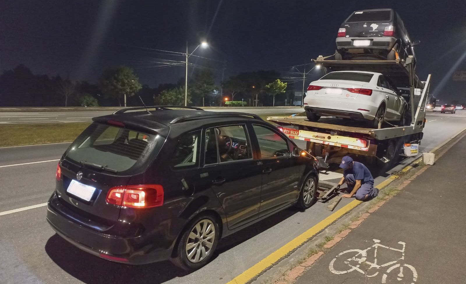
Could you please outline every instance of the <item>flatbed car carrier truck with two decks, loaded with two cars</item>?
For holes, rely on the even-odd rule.
[[[340,163],[341,157],[352,153],[367,156],[370,162],[381,161],[392,165],[402,155],[404,144],[420,144],[425,126],[426,100],[429,94],[431,75],[425,81],[416,76],[412,56],[406,61],[384,60],[327,60],[319,56],[313,60],[320,64],[324,73],[331,71],[371,71],[389,76],[399,88],[409,88],[407,102],[411,125],[394,126],[384,123],[380,129],[359,127],[356,121],[336,118],[321,118],[319,122],[305,117],[267,117],[267,120],[283,126],[281,131],[292,139],[307,141],[307,150],[319,159],[322,168],[329,163]],[[422,91],[419,91],[422,90]]]

